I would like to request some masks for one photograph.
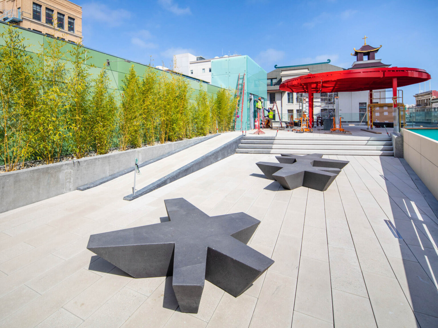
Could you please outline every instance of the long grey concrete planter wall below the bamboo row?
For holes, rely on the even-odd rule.
[[[0,174],[0,213],[75,190],[95,180],[151,160],[206,137],[85,157]]]

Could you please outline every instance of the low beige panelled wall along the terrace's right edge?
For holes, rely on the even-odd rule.
[[[438,199],[438,141],[402,129],[406,162]]]

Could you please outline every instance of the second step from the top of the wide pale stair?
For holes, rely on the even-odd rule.
[[[242,140],[242,144],[267,144],[267,145],[362,145],[362,146],[389,146],[391,140]]]

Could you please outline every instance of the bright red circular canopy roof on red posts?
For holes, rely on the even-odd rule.
[[[308,92],[365,91],[392,88],[392,78],[397,78],[397,87],[404,87],[430,80],[425,70],[409,67],[363,68],[359,70],[339,70],[295,77],[280,84],[280,90]]]

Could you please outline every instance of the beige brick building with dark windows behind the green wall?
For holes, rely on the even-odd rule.
[[[0,0],[0,20],[78,42],[82,7],[68,0]]]

